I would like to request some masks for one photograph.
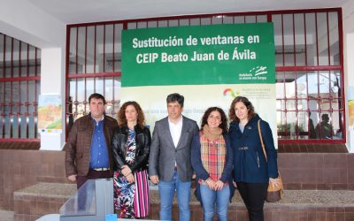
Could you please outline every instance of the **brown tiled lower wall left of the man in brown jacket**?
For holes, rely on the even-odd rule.
[[[0,208],[13,210],[13,192],[36,182],[66,182],[65,152],[0,149]]]

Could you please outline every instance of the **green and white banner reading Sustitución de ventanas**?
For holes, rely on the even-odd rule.
[[[185,97],[196,122],[211,106],[228,113],[243,95],[269,122],[276,140],[273,23],[157,27],[122,33],[122,103],[142,105],[151,127],[167,116],[165,98]]]

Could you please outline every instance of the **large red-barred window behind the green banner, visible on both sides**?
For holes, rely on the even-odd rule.
[[[119,108],[120,32],[146,27],[273,22],[280,142],[344,142],[341,9],[261,11],[71,25],[67,122],[89,112],[88,96]]]

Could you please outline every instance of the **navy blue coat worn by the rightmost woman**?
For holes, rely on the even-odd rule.
[[[266,157],[258,134],[258,115],[250,118],[243,133],[238,122],[231,122],[229,134],[234,149],[234,179],[236,182],[268,183],[269,178],[278,177],[277,152],[272,130],[261,120],[260,128],[266,146]]]

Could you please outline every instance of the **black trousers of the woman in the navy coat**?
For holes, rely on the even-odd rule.
[[[266,201],[267,183],[237,182],[237,189],[249,212],[250,221],[263,221],[263,206]]]

